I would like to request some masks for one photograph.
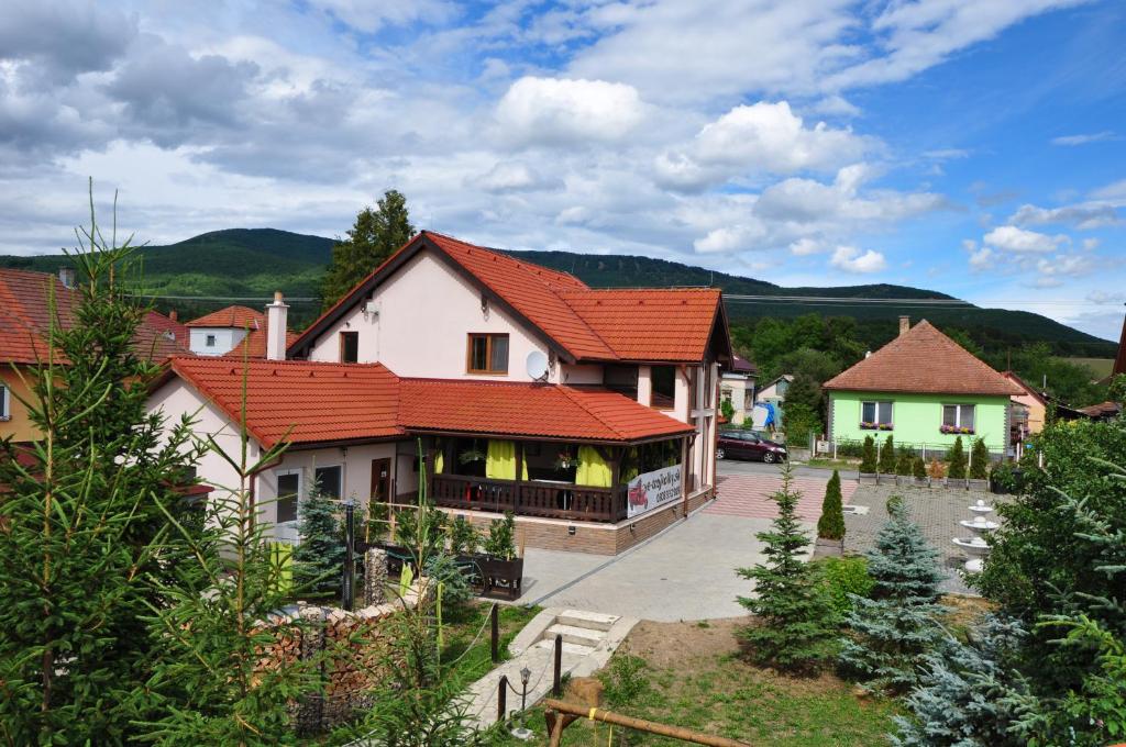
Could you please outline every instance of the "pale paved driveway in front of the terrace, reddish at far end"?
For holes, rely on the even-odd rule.
[[[798,485],[805,493],[799,513],[811,532],[826,482],[803,477]],[[769,495],[779,484],[777,468],[772,475],[721,476],[715,502],[616,557],[529,548],[521,602],[660,622],[743,615],[735,597],[753,585],[735,568],[762,560],[756,534],[770,525]]]

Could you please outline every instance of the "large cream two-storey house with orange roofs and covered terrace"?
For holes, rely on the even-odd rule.
[[[176,358],[150,400],[236,451],[247,377],[251,459],[287,444],[251,486],[277,538],[314,485],[412,502],[420,464],[439,507],[512,512],[527,544],[563,550],[618,552],[714,495],[716,289],[593,289],[423,231],[288,344],[286,315],[267,306],[265,358]],[[198,474],[234,479],[217,456]]]

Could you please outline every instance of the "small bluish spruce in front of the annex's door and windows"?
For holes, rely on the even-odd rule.
[[[340,503],[320,489],[301,502],[294,550],[294,580],[302,591],[339,592],[345,567],[345,542],[340,528]]]

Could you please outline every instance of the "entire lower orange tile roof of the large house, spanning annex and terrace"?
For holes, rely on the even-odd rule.
[[[542,384],[399,378],[379,363],[173,358],[171,372],[266,448],[441,431],[632,442],[692,432],[615,392]]]

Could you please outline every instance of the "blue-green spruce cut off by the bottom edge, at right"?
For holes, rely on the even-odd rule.
[[[922,657],[919,684],[895,717],[901,747],[1017,747],[1035,700],[1017,669],[1026,633],[1019,621],[988,615],[967,641],[945,639]]]

